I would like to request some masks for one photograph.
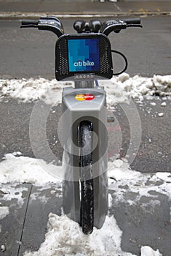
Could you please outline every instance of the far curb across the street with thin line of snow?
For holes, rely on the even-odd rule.
[[[166,16],[171,15],[171,11],[164,12],[0,12],[0,20],[23,18],[40,18],[42,16],[53,15],[59,18],[92,18],[92,17],[121,17],[121,16]]]

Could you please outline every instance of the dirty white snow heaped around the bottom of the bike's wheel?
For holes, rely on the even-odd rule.
[[[68,217],[49,214],[49,229],[45,241],[37,252],[25,252],[24,256],[135,256],[121,249],[122,231],[114,217],[106,217],[103,227],[94,229],[90,236]],[[149,246],[141,248],[141,256],[162,256]]]

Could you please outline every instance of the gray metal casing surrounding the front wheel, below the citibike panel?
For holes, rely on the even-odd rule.
[[[86,78],[85,78],[86,77]],[[75,77],[75,88],[63,89],[63,211],[68,217],[80,222],[80,173],[78,127],[81,121],[90,121],[93,127],[93,185],[94,226],[102,227],[108,213],[108,133],[106,129],[106,91],[94,87],[90,74]],[[92,100],[76,100],[76,95],[92,94]],[[94,136],[95,135],[95,136]]]

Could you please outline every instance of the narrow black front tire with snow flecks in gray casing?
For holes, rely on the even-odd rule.
[[[92,123],[90,121],[81,121],[78,132],[81,184],[80,225],[84,234],[90,234],[94,226]]]

